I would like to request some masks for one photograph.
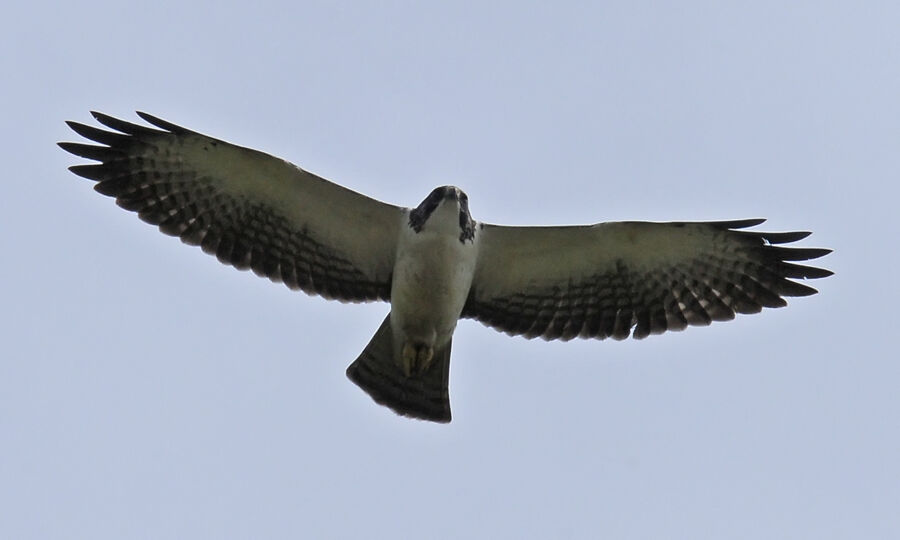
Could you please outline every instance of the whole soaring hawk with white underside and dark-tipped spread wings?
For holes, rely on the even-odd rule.
[[[466,194],[435,188],[415,208],[371,199],[291,163],[145,113],[153,127],[92,113],[62,142],[94,189],[221,262],[342,302],[391,309],[347,376],[396,413],[450,421],[453,331],[471,318],[510,335],[637,339],[786,305],[827,249],[762,219],[509,227],[474,221]]]

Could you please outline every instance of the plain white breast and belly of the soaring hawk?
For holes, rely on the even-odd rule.
[[[477,249],[458,236],[407,231],[394,266],[391,326],[403,341],[440,347],[452,337],[465,305]]]

